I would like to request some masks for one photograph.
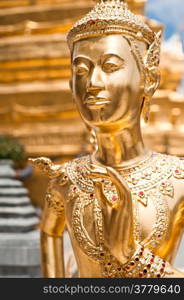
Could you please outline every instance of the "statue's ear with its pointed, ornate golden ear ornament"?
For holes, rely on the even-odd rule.
[[[148,49],[146,58],[145,58],[145,87],[144,93],[148,97],[152,97],[156,89],[160,84],[160,47],[161,47],[162,32],[159,31],[154,42]]]

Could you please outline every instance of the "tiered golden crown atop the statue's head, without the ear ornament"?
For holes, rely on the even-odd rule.
[[[153,32],[141,16],[133,14],[123,0],[98,0],[95,7],[69,31],[69,48],[87,37],[120,33],[144,41],[148,45],[155,39]]]

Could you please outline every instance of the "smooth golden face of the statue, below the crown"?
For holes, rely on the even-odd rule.
[[[139,47],[143,55],[144,44]],[[125,120],[139,116],[141,86],[136,60],[129,43],[121,35],[75,43],[72,90],[78,110],[89,126],[121,126]]]

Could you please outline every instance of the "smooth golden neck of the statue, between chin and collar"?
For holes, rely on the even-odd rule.
[[[111,167],[134,164],[145,158],[140,120],[128,124],[121,130],[99,130],[96,132],[97,150],[93,160]]]

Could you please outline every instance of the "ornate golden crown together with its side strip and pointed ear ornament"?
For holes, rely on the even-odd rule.
[[[133,14],[124,0],[96,0],[95,7],[69,31],[67,41],[70,50],[76,41],[107,34],[122,34],[131,46],[137,66],[146,81],[151,80],[149,70],[160,62],[162,33],[157,34],[144,23],[141,16]],[[148,51],[143,58],[135,40],[145,42]]]

